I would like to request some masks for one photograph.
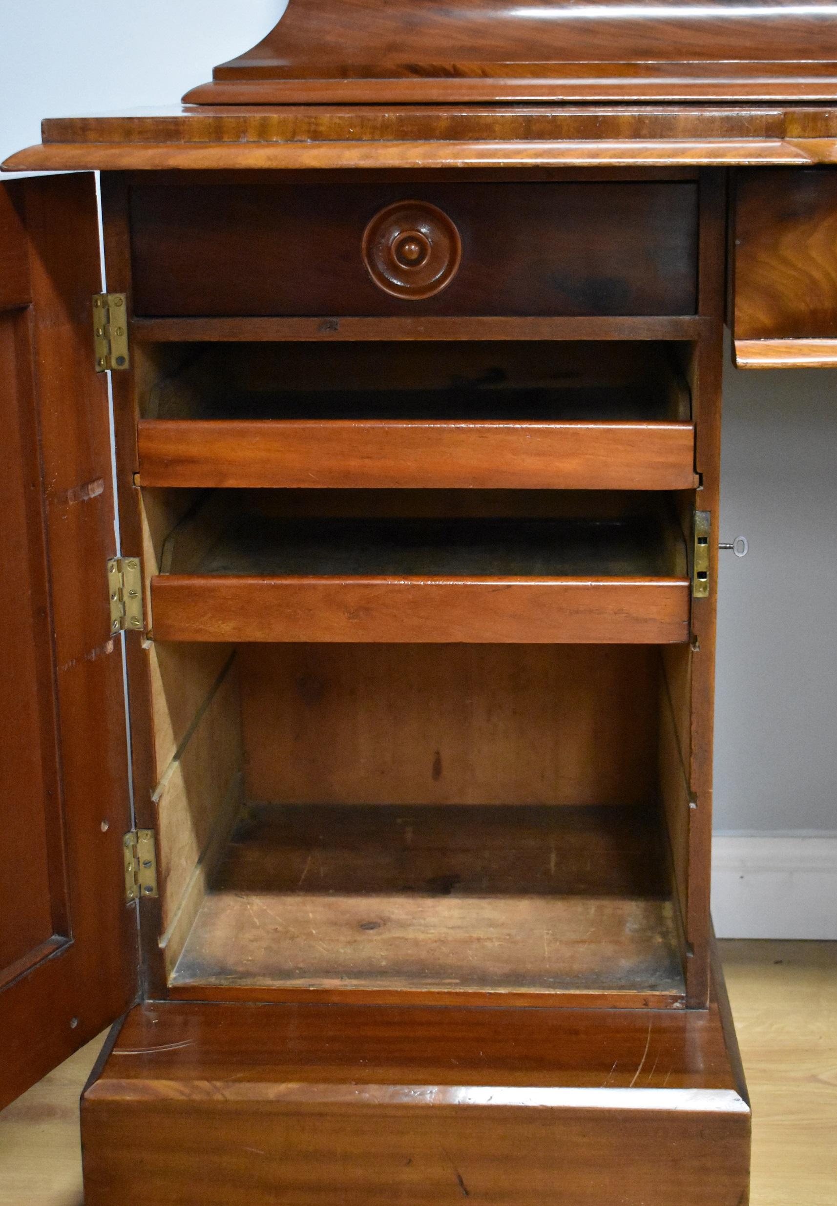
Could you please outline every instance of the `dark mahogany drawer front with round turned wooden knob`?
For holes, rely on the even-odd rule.
[[[691,315],[691,181],[131,189],[144,317]]]

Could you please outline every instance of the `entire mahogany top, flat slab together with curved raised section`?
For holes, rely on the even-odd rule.
[[[837,162],[837,0],[289,0],[182,107],[6,171]]]

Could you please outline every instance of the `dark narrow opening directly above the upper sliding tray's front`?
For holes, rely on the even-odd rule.
[[[677,341],[146,344],[141,420],[687,421]]]

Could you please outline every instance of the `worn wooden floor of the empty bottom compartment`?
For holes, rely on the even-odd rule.
[[[250,806],[172,994],[672,1003],[660,839],[637,807]]]

